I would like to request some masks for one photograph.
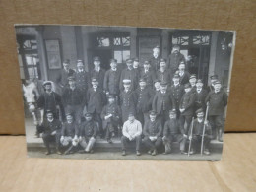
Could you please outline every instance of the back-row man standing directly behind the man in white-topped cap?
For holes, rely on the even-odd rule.
[[[128,79],[131,80],[131,90],[135,90],[138,85],[138,74],[136,73],[135,69],[133,68],[133,60],[127,59],[126,60],[127,68],[124,69],[121,73],[119,89],[122,91],[123,88],[123,80]]]

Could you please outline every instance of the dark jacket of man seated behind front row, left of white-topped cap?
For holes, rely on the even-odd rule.
[[[112,114],[108,119],[105,119],[105,116]],[[117,126],[121,120],[121,109],[116,103],[107,104],[104,106],[101,112],[101,119],[103,121],[103,129],[106,128],[107,123],[111,123],[114,126]]]

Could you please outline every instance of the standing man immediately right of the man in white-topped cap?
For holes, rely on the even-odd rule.
[[[139,81],[139,88],[134,92],[137,100],[136,104],[136,116],[137,119],[144,125],[144,122],[148,118],[148,112],[152,107],[152,100],[154,97],[154,91],[147,87],[145,79],[141,78]]]

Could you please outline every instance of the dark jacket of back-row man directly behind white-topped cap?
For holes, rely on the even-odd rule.
[[[119,89],[120,91],[124,90],[123,87],[123,80],[129,79],[131,80],[131,90],[135,90],[138,86],[139,77],[136,71],[132,68],[129,70],[128,68],[124,69],[121,73],[120,82],[119,82]]]

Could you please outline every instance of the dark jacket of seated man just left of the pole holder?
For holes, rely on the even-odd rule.
[[[170,135],[177,135],[177,134],[184,134],[184,130],[179,125],[179,122],[177,119],[169,119],[164,124],[163,129],[163,136],[170,136]]]

